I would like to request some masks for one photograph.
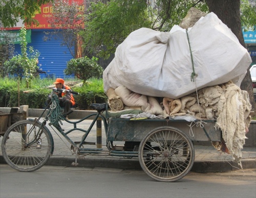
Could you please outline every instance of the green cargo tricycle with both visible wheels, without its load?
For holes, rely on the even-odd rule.
[[[121,119],[103,116],[108,105],[92,104],[97,113],[78,121],[70,121],[58,113],[58,98],[53,95],[52,104],[44,121],[23,120],[14,123],[6,131],[2,141],[2,152],[6,162],[19,171],[34,171],[45,165],[53,154],[54,142],[51,126],[65,137],[76,154],[73,165],[77,165],[79,155],[97,155],[108,153],[110,156],[138,158],[142,169],[153,179],[161,182],[174,182],[183,178],[193,167],[195,159],[194,140],[220,141],[221,133],[216,130],[214,120],[207,120],[200,126],[189,126],[190,122],[169,119]],[[56,113],[57,112],[57,113]],[[44,113],[42,113],[43,115]],[[105,115],[108,115],[106,113]],[[77,124],[93,117],[88,129],[77,128]],[[106,149],[87,148],[86,138],[97,119],[101,118],[106,134]],[[73,128],[66,131],[61,128],[65,120]],[[70,133],[82,131],[81,141],[74,142]],[[123,147],[115,146],[115,141],[124,141]]]

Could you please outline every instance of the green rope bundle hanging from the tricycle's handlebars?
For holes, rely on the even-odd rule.
[[[55,127],[60,127],[59,122],[64,120],[63,118],[63,109],[59,106],[59,98],[56,94],[52,94],[52,103],[50,105],[50,109],[48,112],[49,120]]]

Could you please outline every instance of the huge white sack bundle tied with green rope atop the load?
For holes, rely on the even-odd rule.
[[[118,46],[103,72],[104,91],[124,85],[156,97],[177,99],[206,86],[232,80],[240,86],[251,58],[237,37],[214,13],[202,17],[188,31],[196,83],[185,29],[170,32],[141,28]]]

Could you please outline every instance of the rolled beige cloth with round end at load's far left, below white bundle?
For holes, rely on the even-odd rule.
[[[106,95],[108,96],[108,104],[110,106],[111,111],[116,112],[123,109],[123,102],[121,98],[116,94],[115,90],[110,88]]]

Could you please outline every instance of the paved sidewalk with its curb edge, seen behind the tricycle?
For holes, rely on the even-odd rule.
[[[31,119],[34,119],[30,117]],[[75,120],[70,120],[75,121]],[[77,124],[77,127],[88,129],[91,121],[83,121]],[[73,127],[66,121],[62,122],[62,128],[68,131]],[[47,165],[59,165],[59,166],[72,166],[72,162],[75,162],[75,155],[73,150],[70,149],[70,143],[64,139],[59,133],[56,134],[53,129],[47,124],[54,139],[54,152],[53,156],[50,157]],[[58,136],[60,135],[60,137]],[[76,131],[70,134],[70,138],[74,141],[79,141],[83,133]],[[0,138],[0,141],[2,139]],[[96,144],[96,126],[92,128],[91,133],[88,135],[87,142],[95,142]],[[120,145],[123,142],[118,142]],[[104,132],[104,126],[102,124],[102,148],[106,149],[106,137]],[[88,145],[87,145],[88,146]],[[95,145],[89,145],[95,148]],[[0,148],[0,163],[3,163],[2,149]],[[243,169],[255,168],[256,162],[256,148],[255,147],[244,147],[242,150]],[[213,146],[195,145],[195,163],[191,171],[196,172],[222,172],[228,170],[237,170],[241,167],[232,161],[232,156],[219,152]],[[141,169],[138,158],[125,159],[123,157],[112,157],[108,155],[106,151],[105,155],[88,155],[77,160],[79,167],[107,167],[107,168],[119,168],[119,169]]]

